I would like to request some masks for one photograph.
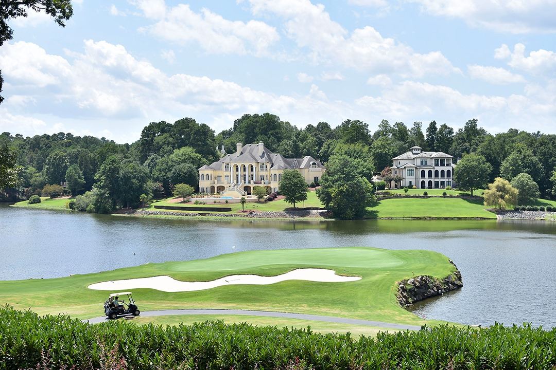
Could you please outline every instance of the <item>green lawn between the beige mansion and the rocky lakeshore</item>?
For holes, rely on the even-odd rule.
[[[154,202],[149,208],[154,209],[153,206],[155,205],[162,205],[162,206],[197,206],[197,207],[230,207],[232,209],[232,213],[241,212],[241,204],[239,203],[212,203],[210,201],[206,201],[207,204],[193,204],[193,202],[188,203],[173,203],[169,202],[172,198],[164,199],[158,202]],[[202,200],[202,199],[199,199]],[[316,196],[315,191],[307,192],[307,200],[301,203],[296,203],[296,207],[322,207],[322,203],[320,202],[319,198]],[[260,210],[260,211],[283,211],[286,208],[291,208],[292,205],[286,203],[283,199],[282,200],[273,200],[270,202],[249,202],[245,204],[245,210]],[[160,210],[157,210],[160,211]],[[163,211],[163,210],[162,210]],[[175,212],[175,211],[172,211]],[[184,212],[194,212],[198,213],[199,211],[184,211]]]

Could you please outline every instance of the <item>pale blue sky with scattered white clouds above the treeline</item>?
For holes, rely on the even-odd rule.
[[[270,111],[371,130],[478,118],[556,133],[554,0],[121,0],[29,14],[0,47],[0,131],[119,143],[151,121],[217,133]]]

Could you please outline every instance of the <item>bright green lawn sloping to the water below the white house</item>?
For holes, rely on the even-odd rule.
[[[376,217],[482,217],[496,219],[496,215],[485,210],[480,200],[460,198],[428,198],[428,199],[385,199],[376,207],[368,208],[369,218]]]

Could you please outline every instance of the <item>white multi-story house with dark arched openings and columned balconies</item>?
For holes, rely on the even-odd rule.
[[[453,158],[441,151],[422,151],[419,146],[414,146],[392,159],[392,175],[399,175],[401,181],[392,181],[390,188],[415,186],[419,189],[444,189],[452,186]]]

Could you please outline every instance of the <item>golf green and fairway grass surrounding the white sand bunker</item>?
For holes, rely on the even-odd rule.
[[[234,308],[311,313],[421,325],[425,321],[396,302],[395,283],[416,275],[445,277],[455,271],[448,258],[424,250],[365,247],[247,251],[207,260],[147,263],[114,271],[71,277],[0,281],[0,305],[38,313],[66,312],[79,318],[103,315],[107,291],[87,288],[95,282],[168,275],[182,281],[209,281],[254,273],[275,276],[300,267],[330,268],[354,282],[284,281],[272,285],[221,286],[196,292],[166,293],[136,289],[142,311],[173,308]],[[426,321],[435,323],[434,321]]]

